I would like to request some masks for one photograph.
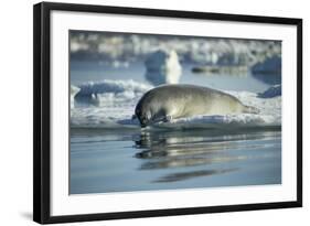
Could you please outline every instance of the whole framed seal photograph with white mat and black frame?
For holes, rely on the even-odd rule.
[[[34,6],[38,223],[302,205],[302,20]]]

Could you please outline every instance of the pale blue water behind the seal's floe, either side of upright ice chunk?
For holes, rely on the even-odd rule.
[[[194,65],[185,64],[183,66],[180,83],[203,85],[224,90],[248,90],[259,93],[266,90],[270,84],[270,77],[266,75],[252,75],[250,73],[236,76],[236,75],[220,75],[210,76],[205,74],[193,74],[191,72]],[[114,68],[100,61],[72,61],[71,63],[71,83],[79,85],[85,82],[99,82],[101,79],[130,79],[135,78],[137,82],[148,83],[145,78],[145,64],[141,61],[130,64],[130,68]],[[267,83],[266,83],[267,82]],[[272,80],[271,80],[272,82]]]

